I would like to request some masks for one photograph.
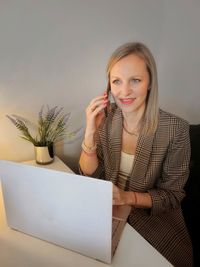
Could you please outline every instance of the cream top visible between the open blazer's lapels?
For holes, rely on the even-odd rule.
[[[127,154],[121,151],[121,161],[120,161],[120,169],[119,169],[119,179],[118,179],[118,187],[124,189],[126,186],[126,181],[130,178],[130,174],[133,167],[134,155]]]

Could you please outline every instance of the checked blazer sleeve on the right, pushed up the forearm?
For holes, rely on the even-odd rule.
[[[181,122],[175,127],[156,188],[148,190],[152,198],[152,215],[179,208],[185,196],[183,188],[189,176],[191,149],[189,124]]]

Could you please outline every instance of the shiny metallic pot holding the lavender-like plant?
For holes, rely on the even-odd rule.
[[[35,146],[35,160],[38,164],[49,164],[54,160],[53,144],[49,146]]]

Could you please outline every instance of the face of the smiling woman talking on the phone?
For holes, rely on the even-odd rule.
[[[137,55],[128,55],[112,67],[111,92],[123,113],[144,111],[149,80],[146,63]]]

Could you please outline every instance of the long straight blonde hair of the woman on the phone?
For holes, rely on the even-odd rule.
[[[117,48],[111,55],[107,64],[107,91],[110,93],[110,71],[112,67],[122,58],[128,55],[137,55],[144,60],[149,73],[150,84],[146,99],[146,109],[143,116],[143,129],[146,133],[155,132],[158,125],[158,79],[157,68],[151,51],[138,42],[126,43]]]

